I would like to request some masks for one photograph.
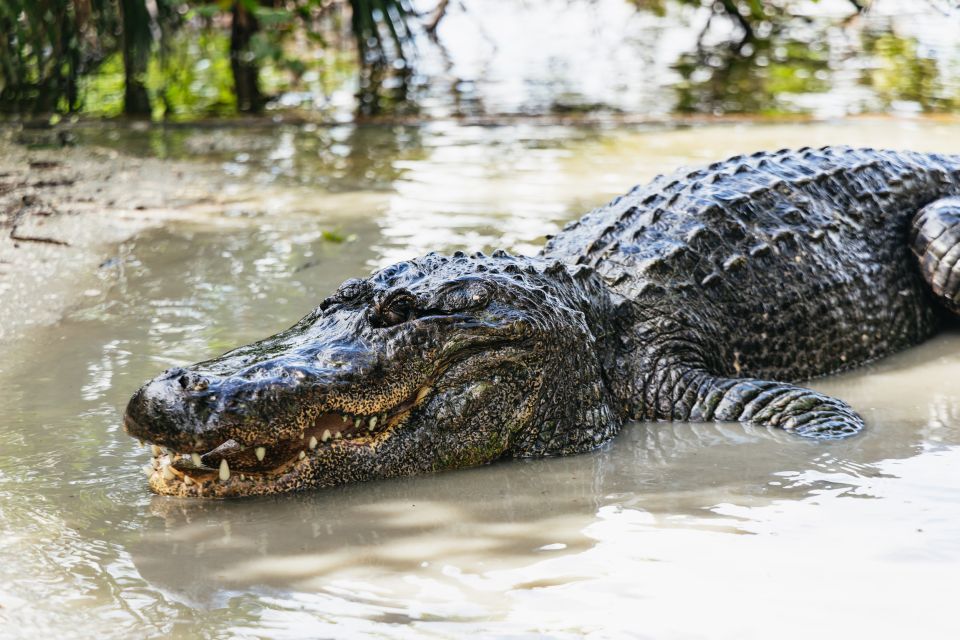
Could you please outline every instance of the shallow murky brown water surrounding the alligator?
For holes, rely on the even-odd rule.
[[[577,457],[203,502],[148,493],[120,416],[379,265],[534,250],[680,164],[957,151],[956,124],[84,135],[204,163],[241,204],[117,247],[61,322],[0,345],[0,636],[955,637],[960,331],[817,381],[867,419],[841,442],[631,424]]]

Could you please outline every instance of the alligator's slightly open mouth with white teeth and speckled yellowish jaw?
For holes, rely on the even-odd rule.
[[[163,495],[225,496],[268,493],[271,479],[296,474],[324,450],[376,447],[406,421],[429,393],[422,387],[405,401],[377,413],[324,411],[306,422],[299,437],[243,445],[229,439],[213,449],[174,451],[147,441],[153,457],[143,471],[150,488]],[[124,421],[133,422],[130,416]],[[142,430],[137,429],[142,433]],[[260,487],[255,490],[255,487]],[[266,488],[266,489],[265,489]]]

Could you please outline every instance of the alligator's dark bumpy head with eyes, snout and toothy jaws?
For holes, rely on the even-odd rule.
[[[348,280],[293,327],[130,400],[157,493],[245,496],[596,447],[595,276],[503,252],[430,254]],[[588,304],[589,300],[589,304]]]

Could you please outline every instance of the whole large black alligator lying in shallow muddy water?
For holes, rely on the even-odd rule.
[[[848,147],[659,176],[535,256],[430,253],[131,398],[150,488],[272,494],[576,454],[628,421],[863,429],[799,382],[960,312],[960,156]],[[651,426],[649,428],[655,428]]]

